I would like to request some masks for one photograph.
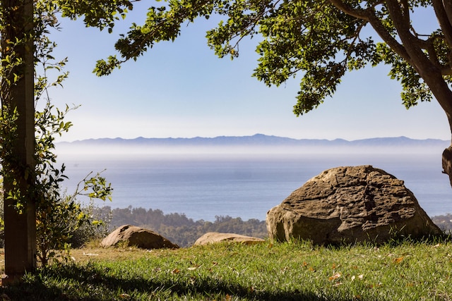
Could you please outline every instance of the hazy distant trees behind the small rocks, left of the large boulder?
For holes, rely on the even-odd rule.
[[[164,214],[159,209],[144,209],[131,206],[124,209],[112,209],[109,206],[96,209],[96,216],[109,221],[109,230],[122,225],[133,225],[159,233],[179,247],[189,247],[208,232],[236,233],[256,238],[266,238],[265,221],[249,219],[242,221],[239,217],[215,216],[215,221],[194,221],[185,214]]]

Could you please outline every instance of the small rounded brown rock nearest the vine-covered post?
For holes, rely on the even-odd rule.
[[[104,238],[100,245],[112,247],[118,245],[119,242],[126,242],[129,247],[136,246],[141,249],[179,248],[178,245],[173,244],[162,235],[131,225],[120,226]]]

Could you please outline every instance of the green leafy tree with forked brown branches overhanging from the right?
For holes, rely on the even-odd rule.
[[[161,1],[158,1],[161,2]],[[181,25],[198,17],[221,18],[207,32],[208,45],[220,57],[239,56],[244,37],[259,37],[254,76],[280,85],[302,75],[294,113],[300,116],[331,97],[345,73],[385,63],[402,85],[403,105],[436,99],[452,133],[452,1],[448,0],[168,0],[150,7],[143,25],[134,24],[115,48],[121,56],[97,62],[107,75],[153,45],[176,39]],[[438,27],[423,32],[412,20],[431,10]],[[432,14],[433,15],[433,14]],[[376,34],[376,39],[369,34]],[[452,147],[443,153],[444,172],[452,185]]]

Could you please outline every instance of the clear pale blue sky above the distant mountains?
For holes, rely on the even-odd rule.
[[[156,44],[137,61],[97,78],[92,73],[95,61],[115,54],[118,35],[130,23],[144,20],[149,3],[137,2],[112,34],[67,19],[61,20],[60,32],[52,32],[58,44],[54,56],[68,57],[65,70],[70,74],[50,97],[58,107],[81,105],[68,114],[66,121],[73,127],[59,141],[256,133],[328,140],[451,137],[436,101],[405,109],[400,84],[388,78],[385,66],[347,74],[332,98],[297,117],[292,107],[301,76],[270,88],[252,78],[257,38],[241,44],[238,59],[218,59],[205,38],[206,30],[215,27],[212,18],[183,25],[175,42]]]

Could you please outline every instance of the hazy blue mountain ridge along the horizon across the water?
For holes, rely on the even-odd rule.
[[[58,145],[78,146],[143,146],[143,147],[203,147],[203,146],[273,146],[273,147],[448,147],[450,142],[439,139],[417,140],[408,137],[378,137],[361,140],[294,139],[273,135],[218,136],[193,138],[100,138],[59,142]]]

